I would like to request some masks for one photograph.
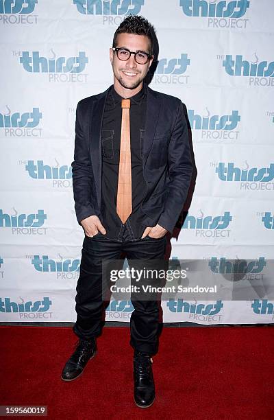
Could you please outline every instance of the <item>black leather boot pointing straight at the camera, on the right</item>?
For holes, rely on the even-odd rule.
[[[152,360],[149,353],[134,351],[134,401],[141,408],[150,407],[155,399]]]

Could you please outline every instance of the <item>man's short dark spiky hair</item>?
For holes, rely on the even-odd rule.
[[[153,33],[155,33],[154,27],[147,19],[136,14],[129,14],[117,27],[113,36],[112,47],[116,48],[116,40],[119,34],[145,35],[150,40],[149,54],[153,54]]]

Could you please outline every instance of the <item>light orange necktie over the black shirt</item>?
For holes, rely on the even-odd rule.
[[[130,152],[130,99],[124,99],[122,106],[120,163],[118,175],[116,212],[123,223],[132,213],[132,157]]]

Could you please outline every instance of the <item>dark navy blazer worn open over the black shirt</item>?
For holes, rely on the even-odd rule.
[[[76,109],[75,152],[71,163],[76,217],[101,215],[101,126],[108,88],[80,100]],[[147,194],[142,211],[147,226],[156,223],[172,233],[192,174],[188,128],[182,102],[147,88],[147,117],[142,165]],[[155,222],[156,220],[156,222]]]

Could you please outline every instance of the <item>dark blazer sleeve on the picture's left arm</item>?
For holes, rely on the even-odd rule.
[[[90,203],[92,194],[92,167],[88,139],[86,139],[81,124],[81,104],[82,101],[78,102],[76,108],[74,161],[71,163],[75,212],[79,224],[81,224],[83,219],[88,218],[88,216],[97,214]]]

